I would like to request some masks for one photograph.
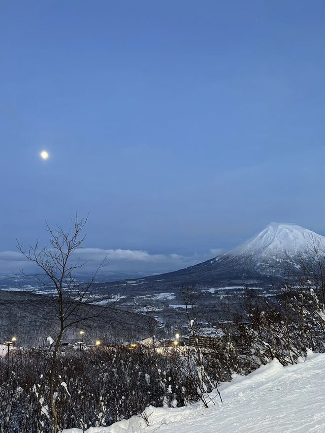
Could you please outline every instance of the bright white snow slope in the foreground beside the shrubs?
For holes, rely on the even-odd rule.
[[[325,354],[283,367],[276,359],[248,376],[237,376],[220,386],[223,404],[185,408],[146,409],[149,426],[133,416],[87,433],[257,433],[325,431]],[[214,396],[213,394],[211,395]],[[64,433],[81,433],[79,428]],[[62,432],[62,433],[63,433]]]

